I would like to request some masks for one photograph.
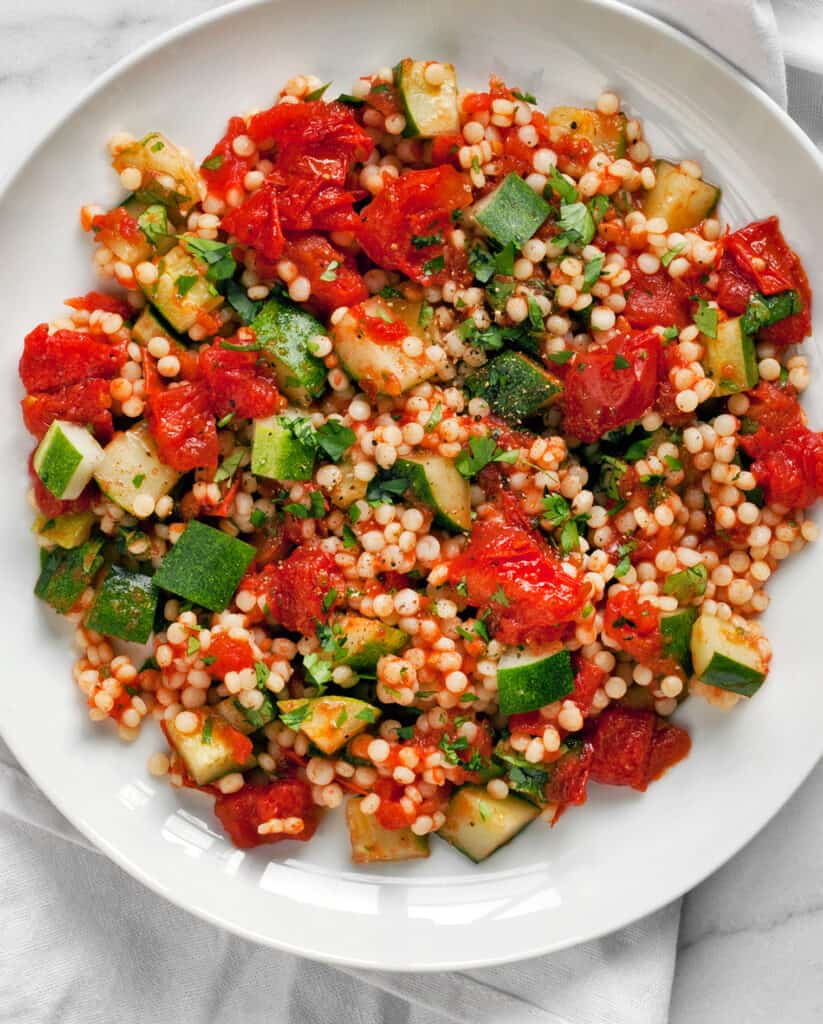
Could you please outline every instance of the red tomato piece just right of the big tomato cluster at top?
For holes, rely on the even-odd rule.
[[[387,270],[401,270],[423,285],[441,282],[450,215],[471,202],[468,177],[448,164],[384,175],[383,191],[362,212],[360,245]]]

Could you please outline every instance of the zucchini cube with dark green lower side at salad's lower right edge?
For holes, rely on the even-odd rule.
[[[750,697],[766,679],[768,666],[753,633],[702,612],[692,630],[694,673],[709,686]]]

